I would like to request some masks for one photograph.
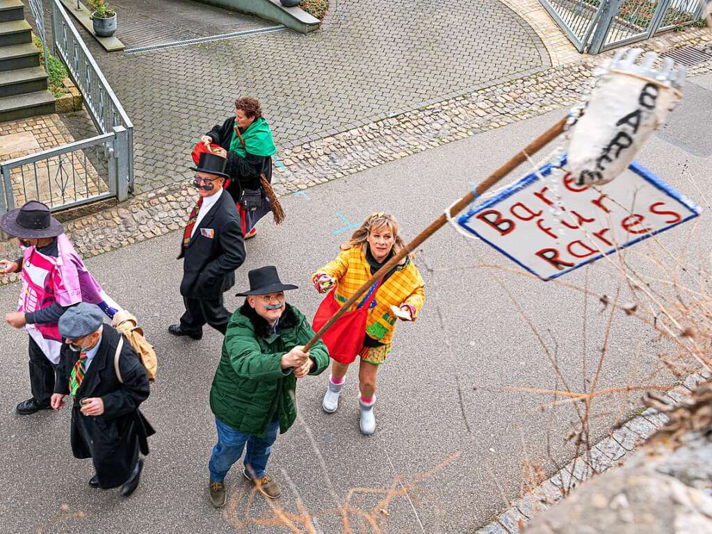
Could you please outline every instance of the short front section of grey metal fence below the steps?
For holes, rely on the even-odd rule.
[[[91,137],[0,164],[0,213],[38,200],[51,209],[125,197],[125,164],[117,154],[125,150],[127,130]],[[122,192],[123,187],[123,192]]]

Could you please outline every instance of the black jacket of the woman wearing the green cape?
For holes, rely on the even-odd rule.
[[[230,142],[234,134],[235,117],[229,117],[222,125],[214,125],[205,135],[212,137],[213,142],[227,151],[227,164],[225,172],[230,175],[231,184],[227,191],[237,202],[240,198],[240,188],[260,189],[260,174],[264,174],[268,182],[272,183],[272,158],[270,156],[256,156],[247,154],[241,157],[235,152],[230,152]],[[242,133],[242,130],[240,131]]]

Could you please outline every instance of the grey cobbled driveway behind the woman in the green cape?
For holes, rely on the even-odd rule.
[[[155,0],[144,11],[174,4],[192,2]],[[130,9],[142,12],[138,2]],[[120,23],[119,38],[130,23]],[[144,25],[166,41],[157,26]],[[137,55],[105,53],[80,33],[134,122],[139,191],[182,179],[192,145],[237,96],[261,100],[285,148],[550,66],[540,38],[498,0],[339,0],[308,36],[281,31]]]

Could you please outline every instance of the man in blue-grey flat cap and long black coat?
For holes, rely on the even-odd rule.
[[[65,338],[51,403],[73,397],[71,444],[75,458],[91,458],[93,488],[121,486],[129,496],[139,483],[148,436],[155,433],[138,407],[149,394],[146,371],[129,342],[103,324],[98,306],[80,303],[59,319]]]

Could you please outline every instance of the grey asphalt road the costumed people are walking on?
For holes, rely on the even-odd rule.
[[[249,268],[274,264],[283,281],[301,286],[288,294],[290,303],[313,315],[320,298],[310,285],[310,273],[333,258],[350,234],[345,220],[356,223],[370,211],[391,211],[404,236],[412,238],[471,187],[468,182],[486,177],[561,115],[553,112],[476,135],[283,199],[288,219],[281,227],[261,224],[258,237],[248,243],[236,288],[227,294],[229,308],[240,305],[234,293],[246,287]],[[703,135],[702,127],[691,125],[686,135]],[[704,204],[683,169],[705,187],[703,171],[710,166],[710,152],[701,155],[696,149],[697,155],[691,155],[683,143],[671,143],[675,135],[654,137],[639,161]],[[694,239],[704,244],[710,238],[708,215],[698,221]],[[659,242],[678,250],[692,228],[689,224],[661,234]],[[26,335],[0,326],[5,362],[0,390],[1,533],[288,531],[246,522],[247,486],[239,464],[226,479],[230,506],[216,511],[209,503],[207,459],[216,434],[208,393],[221,337],[210,330],[194,342],[166,331],[182,313],[182,266],[174,259],[179,239],[175,233],[87,261],[108,293],[140,318],[159,356],[159,377],[142,407],[157,434],[150,442],[141,485],[127,500],[116,491],[88,487],[92,468],[90,461],[71,455],[68,410],[30,417],[14,414],[16,402],[29,391]],[[644,257],[646,246],[638,245],[642,254],[629,259],[640,271],[654,273]],[[696,261],[697,247],[689,248],[691,261]],[[279,502],[288,511],[296,511],[295,501],[301,501],[318,518],[320,532],[341,532],[333,509],[349,488],[399,488],[399,483],[409,483],[449,459],[409,486],[407,496],[393,498],[388,515],[377,517],[389,533],[474,532],[503,509],[506,499],[518,495],[525,460],[541,461],[550,472],[549,456],[557,462],[570,459],[572,448],[564,443],[575,419],[570,408],[540,412],[538,403],[548,397],[473,387],[561,387],[520,308],[567,381],[581,388],[584,362],[590,377],[598,361],[608,314],[590,298],[584,315],[584,298],[570,288],[479,263],[513,267],[493,249],[450,228],[441,229],[422,247],[417,265],[428,300],[417,323],[399,325],[392,355],[380,371],[378,429],[373,436],[358,430],[355,372],[347,375],[336,414],[325,414],[320,407],[327,375],[300,382],[302,419],[278,438],[268,465],[281,482]],[[565,281],[583,286],[586,279],[592,290],[607,295],[621,285],[605,261],[571,273]],[[0,288],[0,309],[14,307],[18,290],[17,285]],[[637,382],[655,362],[659,346],[654,337],[634,318],[617,315],[600,386]],[[654,380],[671,377],[659,373]],[[609,431],[618,414],[637,409],[636,398],[633,394],[597,403],[594,435]],[[357,492],[352,503],[369,510],[379,498]],[[255,499],[251,514],[269,514],[263,499]]]

